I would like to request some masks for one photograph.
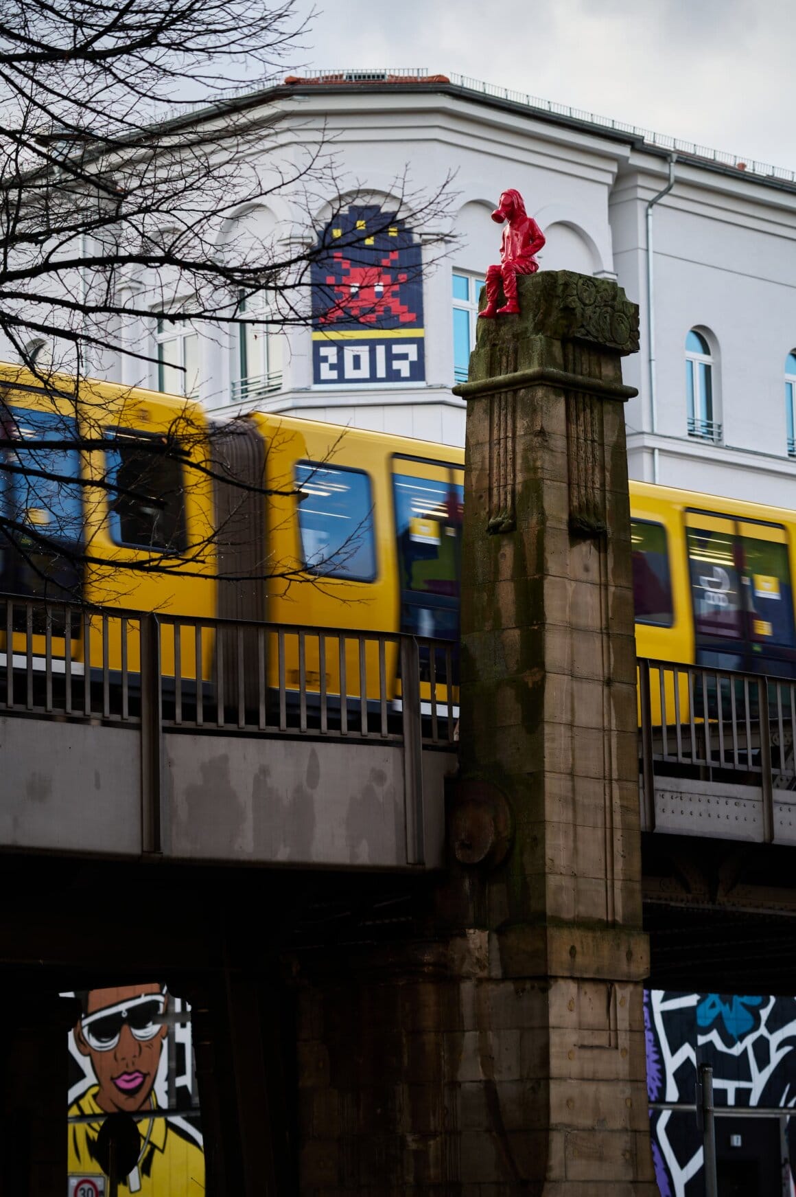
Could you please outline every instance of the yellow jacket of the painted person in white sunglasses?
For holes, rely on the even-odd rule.
[[[106,1191],[102,1168],[97,1163],[93,1147],[105,1111],[97,1105],[98,1086],[87,1089],[69,1106],[69,1119],[97,1114],[97,1122],[69,1122],[69,1195],[75,1180],[88,1178],[97,1192]],[[152,1098],[155,1108],[154,1095]],[[202,1148],[176,1123],[161,1113],[142,1118],[139,1123],[141,1155],[139,1166],[125,1180],[120,1181],[120,1197],[201,1197],[204,1192],[204,1155]],[[93,1189],[88,1186],[88,1191]]]

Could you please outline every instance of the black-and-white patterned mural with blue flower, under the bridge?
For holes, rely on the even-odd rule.
[[[737,1110],[737,1119],[716,1119],[720,1191],[725,1168],[725,1175],[741,1185],[733,1192],[796,1193],[796,1142],[783,1153],[780,1118],[743,1119],[743,1107],[782,1110],[786,1138],[795,1137],[796,1118],[788,1123],[784,1118],[796,1106],[796,998],[651,990],[644,995],[644,1025],[650,1101],[693,1104],[697,1065],[705,1063],[714,1070],[716,1106]],[[650,1111],[650,1118],[661,1197],[703,1197],[702,1134],[693,1111]],[[722,1159],[729,1130],[742,1131],[734,1136],[741,1143]],[[749,1157],[754,1153],[759,1159]],[[790,1165],[783,1154],[790,1155]],[[786,1189],[783,1167],[788,1169]],[[745,1168],[749,1169],[748,1183]],[[763,1172],[767,1172],[765,1183]]]

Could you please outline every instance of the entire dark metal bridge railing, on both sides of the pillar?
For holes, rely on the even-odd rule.
[[[180,730],[400,741],[417,768],[422,748],[455,749],[458,701],[451,640],[0,596],[2,713],[136,725],[148,743]],[[796,680],[639,660],[638,709],[648,830],[656,778],[729,782],[761,794],[773,840],[774,795],[796,791]]]

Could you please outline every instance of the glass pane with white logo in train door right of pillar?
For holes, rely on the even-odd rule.
[[[740,639],[741,587],[730,531],[688,528],[688,567],[697,636]]]

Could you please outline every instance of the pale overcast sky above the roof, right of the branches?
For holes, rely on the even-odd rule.
[[[302,67],[455,71],[796,170],[796,0],[316,6]]]

